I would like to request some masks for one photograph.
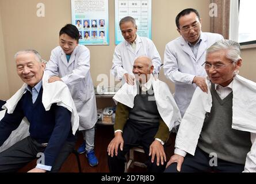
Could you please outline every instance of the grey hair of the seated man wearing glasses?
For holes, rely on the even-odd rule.
[[[226,57],[233,62],[238,62],[241,59],[240,44],[232,40],[219,40],[207,49],[208,53],[227,50]]]

